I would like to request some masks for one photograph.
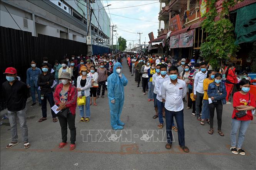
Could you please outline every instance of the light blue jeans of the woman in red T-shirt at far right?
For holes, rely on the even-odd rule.
[[[243,121],[243,120],[232,119],[232,124],[231,124],[232,127],[231,127],[231,133],[230,133],[231,147],[242,148],[242,145],[244,142],[244,135],[250,123],[251,123],[251,120]],[[239,134],[238,134],[238,142],[236,145],[236,133],[238,132],[238,129],[239,129]]]

